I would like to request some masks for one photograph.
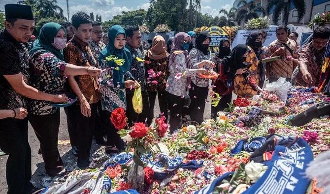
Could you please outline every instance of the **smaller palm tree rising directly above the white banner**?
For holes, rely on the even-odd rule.
[[[239,5],[243,5],[237,12],[236,16],[236,20],[239,25],[242,21],[246,22],[252,18],[258,18],[258,12],[262,12],[264,16],[266,15],[266,10],[261,6],[257,6],[254,1],[247,2],[246,0],[241,0],[238,2],[237,6]],[[243,7],[246,7],[246,9],[243,9]]]

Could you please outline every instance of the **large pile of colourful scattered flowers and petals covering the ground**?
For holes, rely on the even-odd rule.
[[[129,128],[125,111],[119,108],[110,119],[127,143],[127,151],[133,153],[134,157],[151,154],[149,159],[152,161],[153,157],[162,153],[170,159],[182,159],[182,164],[171,171],[166,171],[168,166],[155,170],[152,166],[144,165],[145,187],[142,194],[191,194],[232,171],[232,179],[221,183],[214,193],[240,194],[257,182],[266,170],[263,164],[249,161],[250,153],[241,151],[231,155],[231,149],[240,140],[276,133],[280,136],[302,137],[310,144],[315,156],[330,149],[329,118],[313,119],[300,127],[288,125],[288,120],[293,116],[315,103],[329,100],[323,94],[312,91],[304,87],[292,87],[284,108],[281,100],[238,99],[226,111],[218,112],[216,119],[206,119],[198,126],[183,126],[173,134],[167,133],[168,126],[163,116],[155,119],[149,127],[135,123]],[[310,103],[301,105],[308,100],[311,100]],[[140,162],[136,157],[133,160]],[[127,165],[114,165],[102,169],[105,177],[111,179],[110,192],[131,188],[127,182],[129,168]],[[167,172],[163,179],[156,176],[160,171]]]

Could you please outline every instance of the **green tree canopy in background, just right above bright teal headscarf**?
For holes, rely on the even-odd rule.
[[[144,9],[123,11],[121,15],[114,16],[111,20],[104,22],[103,28],[108,30],[113,25],[120,25],[123,28],[126,26],[141,26],[145,23],[146,14],[147,11]]]

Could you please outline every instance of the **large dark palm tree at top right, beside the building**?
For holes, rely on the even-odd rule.
[[[297,22],[299,22],[306,13],[306,2],[304,0],[269,0],[267,13],[269,15],[270,9],[275,9],[272,17],[274,24],[277,25],[278,19],[283,12],[282,22],[284,22],[285,26],[288,25],[291,4],[293,4],[298,11]]]

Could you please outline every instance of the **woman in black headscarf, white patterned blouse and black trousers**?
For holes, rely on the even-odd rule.
[[[211,37],[207,31],[201,31],[196,38],[196,46],[188,55],[190,65],[193,69],[204,68],[213,70],[215,64],[211,61],[212,56],[208,50]],[[198,76],[192,77],[190,83],[189,96],[191,104],[189,106],[190,117],[199,124],[204,118],[205,100],[207,99],[209,79],[201,79]]]

